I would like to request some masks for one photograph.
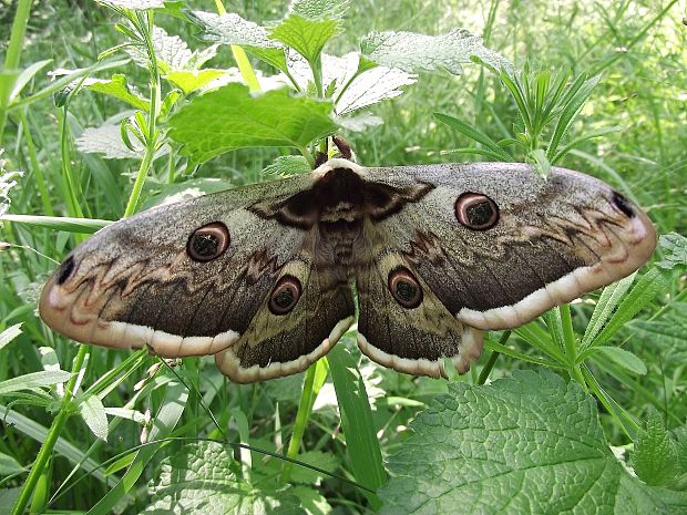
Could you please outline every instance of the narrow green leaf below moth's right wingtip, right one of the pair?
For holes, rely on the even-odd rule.
[[[617,310],[608,319],[602,331],[592,340],[592,346],[601,346],[615,334],[626,322],[632,320],[642,308],[647,306],[656,296],[665,291],[668,278],[658,268],[652,268],[637,281],[634,288],[619,303]]]

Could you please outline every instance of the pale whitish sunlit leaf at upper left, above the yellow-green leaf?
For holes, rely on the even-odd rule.
[[[160,27],[153,28],[152,41],[157,64],[163,73],[178,70],[198,70],[217,53],[217,45],[192,52],[183,39],[178,35],[168,35]],[[150,58],[144,47],[127,47],[126,52],[136,64],[147,69]]]

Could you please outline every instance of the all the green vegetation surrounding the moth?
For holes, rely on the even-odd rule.
[[[676,0],[245,1],[232,23],[219,1],[0,2],[0,513],[687,513]],[[365,55],[358,104],[322,49]],[[233,83],[203,94],[214,80]],[[285,116],[309,132],[223,133]],[[336,152],[332,120],[368,166],[584,171],[647,210],[659,248],[490,333],[450,380],[375,365],[351,333],[305,374],[238,385],[212,358],[78,346],[40,321],[49,274],[105,220],[310,169]]]

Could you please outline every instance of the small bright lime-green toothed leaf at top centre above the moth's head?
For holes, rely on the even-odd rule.
[[[337,20],[312,20],[290,14],[273,27],[269,37],[296,50],[310,64],[318,61],[327,41],[341,32]]]

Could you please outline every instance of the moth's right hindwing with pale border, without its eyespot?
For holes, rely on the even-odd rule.
[[[356,271],[358,292],[358,346],[371,360],[399,372],[445,377],[443,358],[464,373],[482,352],[482,333],[461,323],[418,278],[422,289],[419,306],[404,308],[389,290],[389,276],[414,265],[390,239],[391,233],[366,223],[365,264]],[[416,272],[417,275],[417,272]]]

